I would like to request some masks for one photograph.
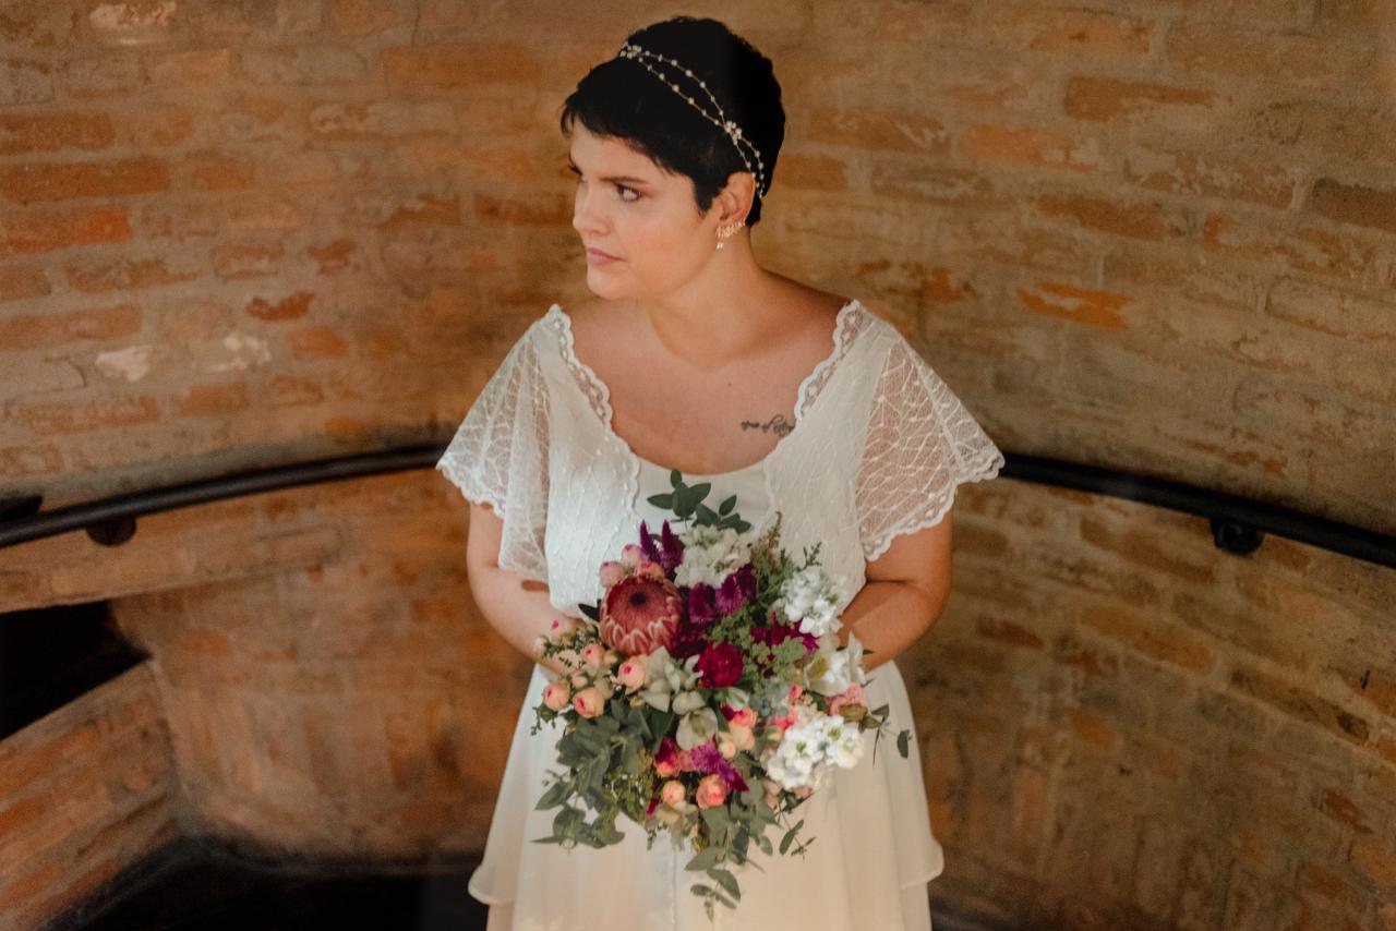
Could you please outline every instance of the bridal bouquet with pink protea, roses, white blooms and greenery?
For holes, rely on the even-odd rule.
[[[751,844],[772,856],[771,825],[785,831],[782,854],[804,853],[812,839],[794,843],[804,821],[789,825],[790,814],[833,766],[859,764],[863,733],[881,738],[888,706],[864,701],[857,638],[839,646],[845,592],[819,568],[819,546],[796,565],[779,549],[779,512],[752,539],[736,496],[713,512],[709,483],[687,486],[677,470],[670,482],[649,501],[688,526],[674,533],[664,521],[656,542],[641,522],[639,543],[602,564],[602,599],[578,606],[586,618],[561,618],[542,639],[540,653],[570,674],[543,691],[532,733],[565,722],[567,769],[550,773],[536,805],[560,811],[535,843],[620,843],[621,814],[644,826],[648,847],[667,831],[677,849],[691,843],[685,868],[706,874],[692,892],[712,918],[715,902],[741,899],[729,867],[747,863]],[[898,734],[902,757],[909,741]]]

